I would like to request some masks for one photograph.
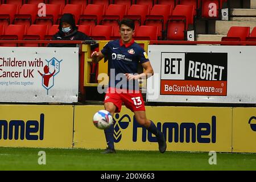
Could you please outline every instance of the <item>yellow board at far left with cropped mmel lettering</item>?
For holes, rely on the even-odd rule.
[[[0,105],[0,146],[72,148],[73,107]]]

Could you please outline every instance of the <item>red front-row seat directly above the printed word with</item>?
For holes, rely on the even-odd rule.
[[[46,24],[31,24],[27,28],[27,33],[23,35],[23,40],[44,40],[47,34],[48,26]],[[40,44],[24,43],[24,47],[39,47]]]

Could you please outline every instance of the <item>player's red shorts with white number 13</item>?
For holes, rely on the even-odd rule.
[[[106,102],[112,102],[117,107],[115,113],[120,113],[122,103],[133,112],[145,111],[143,97],[139,91],[108,88],[104,103]]]

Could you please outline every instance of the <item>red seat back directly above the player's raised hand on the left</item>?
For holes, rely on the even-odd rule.
[[[92,27],[91,37],[94,40],[110,40],[113,35],[113,26],[97,25]]]

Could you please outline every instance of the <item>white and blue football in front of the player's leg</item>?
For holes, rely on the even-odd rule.
[[[93,124],[98,129],[107,129],[113,124],[113,117],[107,110],[99,110],[93,116]]]

